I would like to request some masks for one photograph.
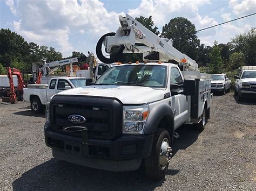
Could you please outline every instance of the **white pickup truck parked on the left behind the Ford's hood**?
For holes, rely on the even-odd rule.
[[[33,112],[38,113],[53,95],[67,89],[88,86],[90,82],[90,79],[83,77],[53,77],[49,85],[28,84],[28,88],[23,89],[23,99],[25,102],[30,102]]]

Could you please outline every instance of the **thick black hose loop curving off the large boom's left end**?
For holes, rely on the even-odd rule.
[[[114,32],[110,32],[110,33],[107,33],[107,34],[104,34],[102,37],[100,37],[97,45],[96,45],[96,54],[97,54],[97,57],[100,61],[102,61],[103,63],[113,63],[113,62],[117,62],[117,61],[120,61],[120,55],[123,53],[124,51],[124,45],[120,46],[118,52],[116,54],[111,54],[110,58],[106,58],[103,53],[102,53],[102,44],[103,44],[103,41],[105,39],[105,37],[109,36],[109,37],[112,37],[114,36],[116,33]]]

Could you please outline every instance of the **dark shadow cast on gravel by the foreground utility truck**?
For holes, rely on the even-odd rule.
[[[200,133],[192,125],[184,125],[177,132],[180,137],[174,139],[174,154],[192,145]],[[167,171],[171,176],[178,173],[179,169]],[[110,172],[51,159],[22,174],[12,182],[12,187],[14,190],[153,190],[164,182],[148,179],[142,168]]]

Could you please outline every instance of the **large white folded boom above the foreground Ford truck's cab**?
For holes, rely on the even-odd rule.
[[[105,51],[111,53],[114,47],[124,46],[124,53],[159,52],[159,59],[165,62],[175,60],[184,66],[184,70],[198,70],[196,61],[186,54],[179,52],[172,46],[172,39],[158,37],[137,20],[126,14],[126,17],[119,16],[120,27],[114,36],[106,36],[104,39]],[[136,43],[143,43],[146,46],[137,46]],[[144,56],[143,59],[145,60]]]

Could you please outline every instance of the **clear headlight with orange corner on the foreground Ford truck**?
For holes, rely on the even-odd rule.
[[[143,128],[149,115],[149,105],[126,106],[123,109],[123,133],[142,134]]]

